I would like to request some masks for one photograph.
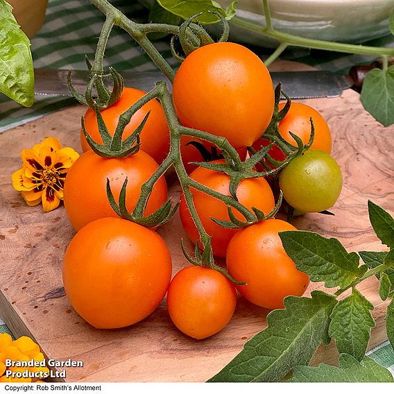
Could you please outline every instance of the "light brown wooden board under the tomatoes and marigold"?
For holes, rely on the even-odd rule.
[[[336,99],[305,103],[319,110],[332,129],[333,155],[343,171],[344,187],[338,203],[330,209],[335,216],[307,214],[298,217],[295,225],[336,237],[348,250],[385,250],[370,228],[367,200],[394,212],[394,127],[380,126],[352,91]],[[46,357],[83,361],[83,368],[67,368],[67,382],[204,382],[266,327],[268,311],[239,298],[228,327],[204,341],[178,332],[164,302],[132,327],[94,329],[76,314],[62,288],[62,258],[74,235],[64,207],[44,214],[41,206],[26,206],[12,189],[10,176],[21,165],[22,148],[52,136],[80,151],[83,111],[76,107],[56,112],[0,135],[1,317],[15,336],[33,337]],[[171,193],[179,194],[176,184]],[[171,249],[175,273],[188,264],[180,250],[180,237],[185,233],[179,217],[158,232]],[[311,285],[308,293],[319,287]],[[377,295],[375,278],[359,289],[375,305],[377,327],[372,331],[371,348],[387,338],[384,303]],[[333,345],[320,347],[314,363],[334,362],[335,358]]]

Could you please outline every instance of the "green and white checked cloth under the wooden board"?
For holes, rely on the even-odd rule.
[[[136,1],[111,0],[111,3],[136,22],[148,20],[146,9]],[[103,20],[101,12],[87,0],[49,0],[44,26],[31,40],[34,67],[85,69],[84,55],[86,54],[89,59],[93,60]],[[367,44],[393,45],[393,40],[391,37],[384,37]],[[155,42],[155,46],[170,65],[178,64],[171,56],[168,40]],[[262,58],[271,53],[268,49],[254,50]],[[308,51],[307,49],[288,50],[281,58],[297,60],[320,69],[341,73],[346,73],[354,64],[368,63],[373,60],[359,55]],[[148,56],[139,49],[127,33],[119,28],[114,28],[112,31],[105,52],[105,65],[112,65],[118,71],[155,69],[155,65]],[[0,132],[75,104],[74,99],[35,96],[33,108],[23,108],[0,94]],[[10,333],[2,320],[0,320],[0,332]],[[388,341],[372,349],[368,355],[391,370],[394,375],[394,352]]]

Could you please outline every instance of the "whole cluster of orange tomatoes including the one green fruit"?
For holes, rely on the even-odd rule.
[[[144,92],[126,87],[117,103],[101,111],[112,134],[119,115],[143,95]],[[247,146],[258,151],[268,144],[262,134],[273,115],[273,84],[264,63],[244,46],[228,42],[209,44],[188,55],[175,75],[173,104],[182,125],[225,137],[242,160]],[[225,203],[190,189],[200,222],[211,237],[213,254],[225,257],[234,280],[246,283],[235,286],[221,272],[203,266],[182,268],[171,280],[171,255],[160,235],[117,217],[108,203],[107,178],[115,199],[128,178],[126,206],[131,212],[142,184],[169,152],[169,128],[156,100],[132,117],[123,139],[148,112],[137,153],[124,158],[100,157],[89,149],[81,135],[85,153],[67,174],[65,209],[78,232],[65,254],[63,280],[67,297],[78,314],[94,327],[125,327],[146,318],[166,295],[169,316],[178,329],[203,339],[228,324],[234,314],[237,291],[268,309],[283,307],[287,295],[302,295],[309,277],[296,269],[278,235],[283,230],[296,230],[286,221],[268,219],[243,229],[223,228],[212,218],[229,221]],[[331,207],[342,185],[341,171],[329,156],[329,128],[318,112],[292,103],[280,123],[280,134],[295,145],[289,135],[291,130],[306,144],[311,133],[310,117],[316,130],[311,149],[291,161],[279,177],[284,198],[301,212]],[[101,142],[92,110],[85,114],[85,128],[92,139]],[[182,137],[180,150],[189,176],[229,195],[228,175],[189,164],[202,161],[199,151],[188,144],[191,140]],[[208,150],[211,148],[208,142],[199,142]],[[276,160],[285,158],[276,146],[270,154]],[[255,207],[265,214],[275,208],[274,193],[264,178],[242,180],[237,198],[248,209]],[[166,199],[166,180],[162,177],[155,183],[145,215],[155,212]],[[233,214],[243,219],[236,209]],[[189,239],[198,242],[196,223],[183,195],[180,219]]]

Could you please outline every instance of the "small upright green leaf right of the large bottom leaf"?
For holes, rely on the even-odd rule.
[[[335,338],[340,353],[348,353],[359,361],[363,359],[370,330],[375,327],[370,314],[372,309],[373,305],[357,289],[335,305],[328,334]]]

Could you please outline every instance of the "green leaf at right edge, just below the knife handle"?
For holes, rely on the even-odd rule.
[[[361,103],[372,117],[390,126],[394,123],[394,66],[386,71],[372,69],[366,75],[361,89]]]

